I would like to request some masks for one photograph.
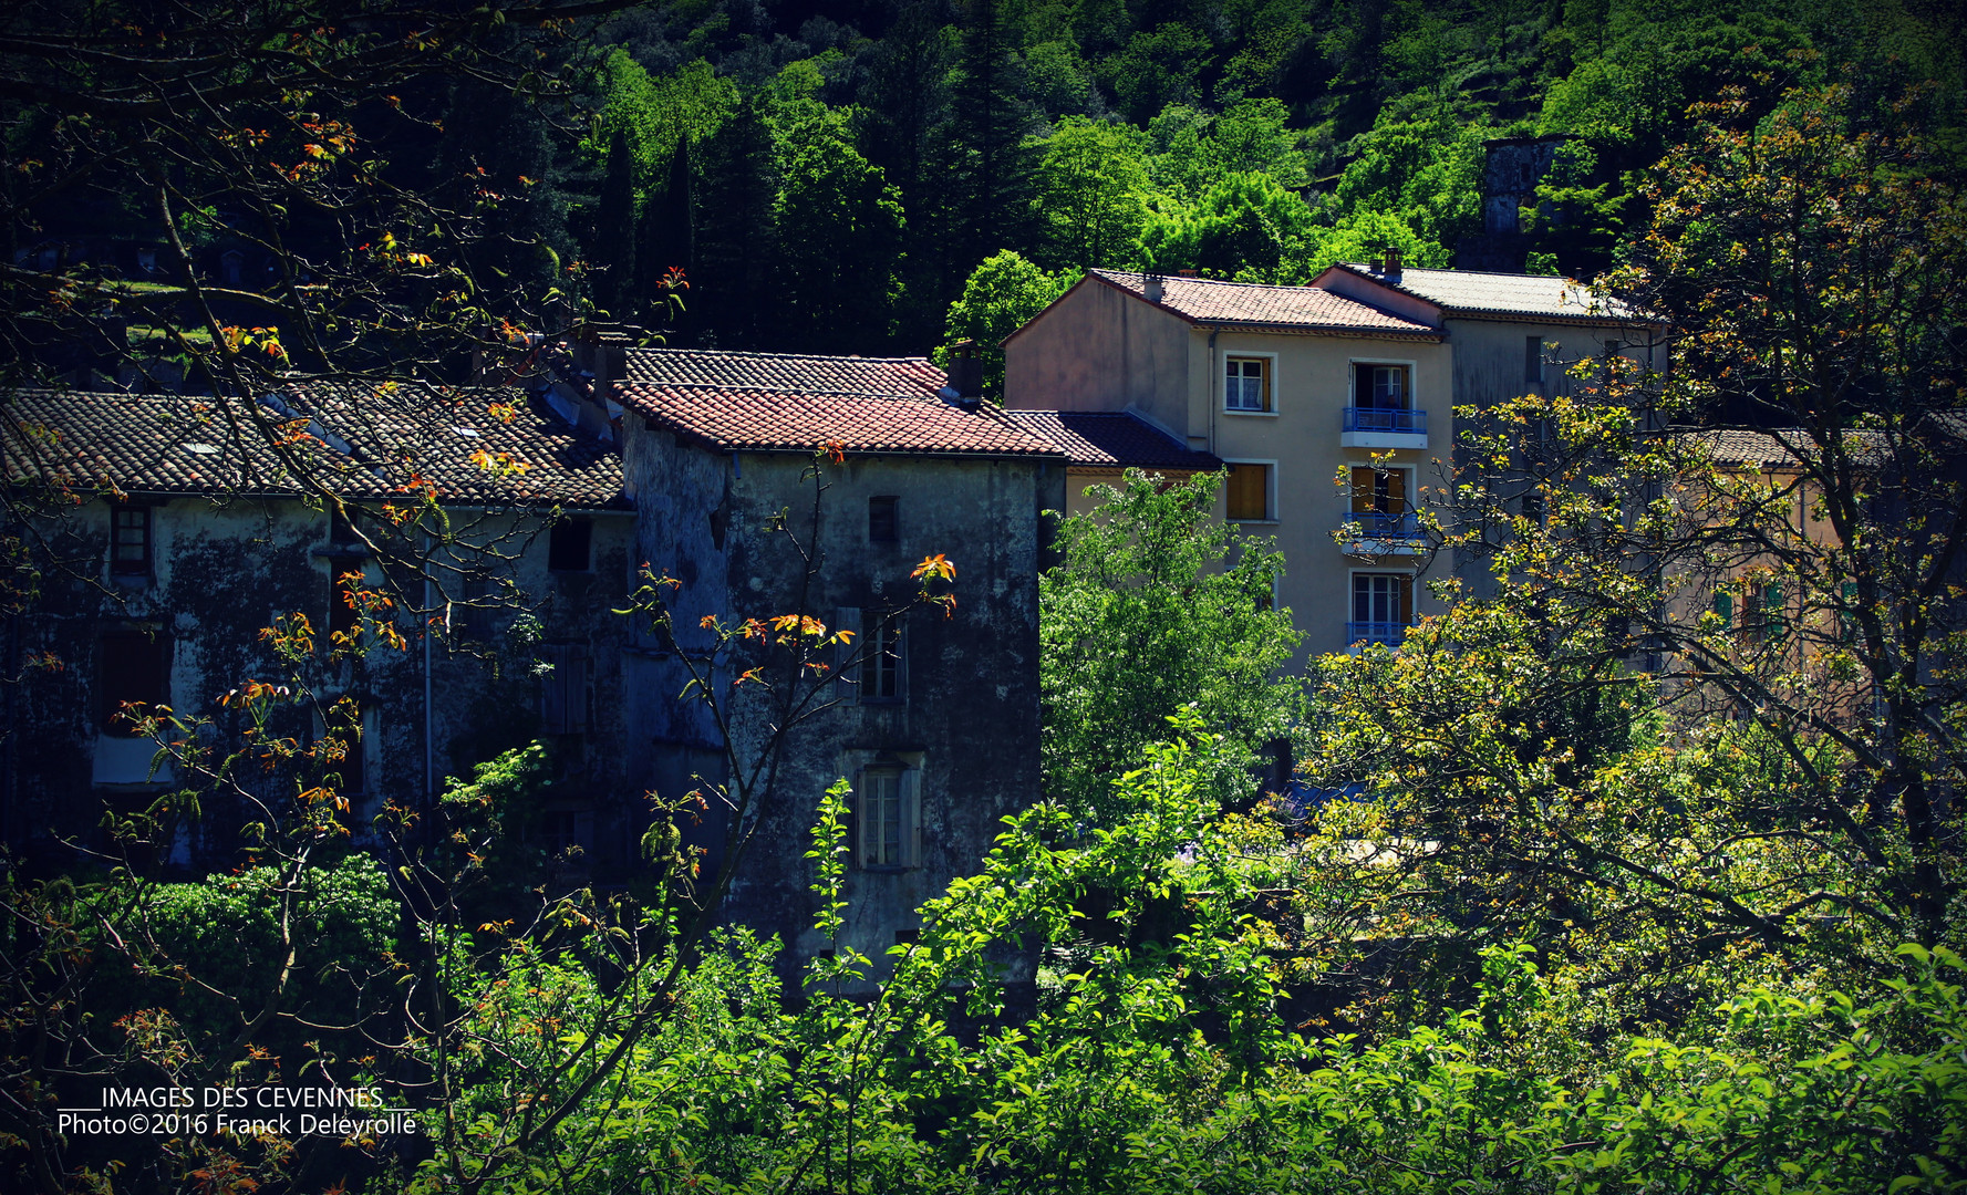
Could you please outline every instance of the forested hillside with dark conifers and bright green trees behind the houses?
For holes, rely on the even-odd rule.
[[[600,116],[541,232],[606,267],[618,316],[683,267],[686,342],[923,352],[1003,250],[972,307],[1090,265],[1300,281],[1379,242],[1448,265],[1483,142],[1570,134],[1532,267],[1591,275],[1688,104],[1957,81],[1959,28],[1818,0],[647,6],[602,31]]]

